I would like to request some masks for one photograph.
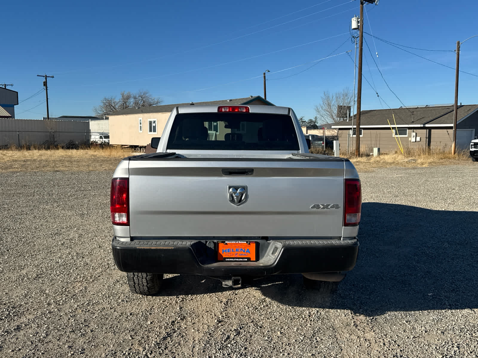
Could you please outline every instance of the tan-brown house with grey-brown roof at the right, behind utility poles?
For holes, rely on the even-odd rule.
[[[478,135],[478,105],[460,104],[457,112],[456,147],[466,149]],[[351,119],[332,126],[338,129],[341,150],[355,148],[355,127]],[[403,149],[447,150],[453,144],[453,105],[361,111],[359,135],[360,151],[379,147],[382,152],[392,152],[398,150],[397,141]]]

